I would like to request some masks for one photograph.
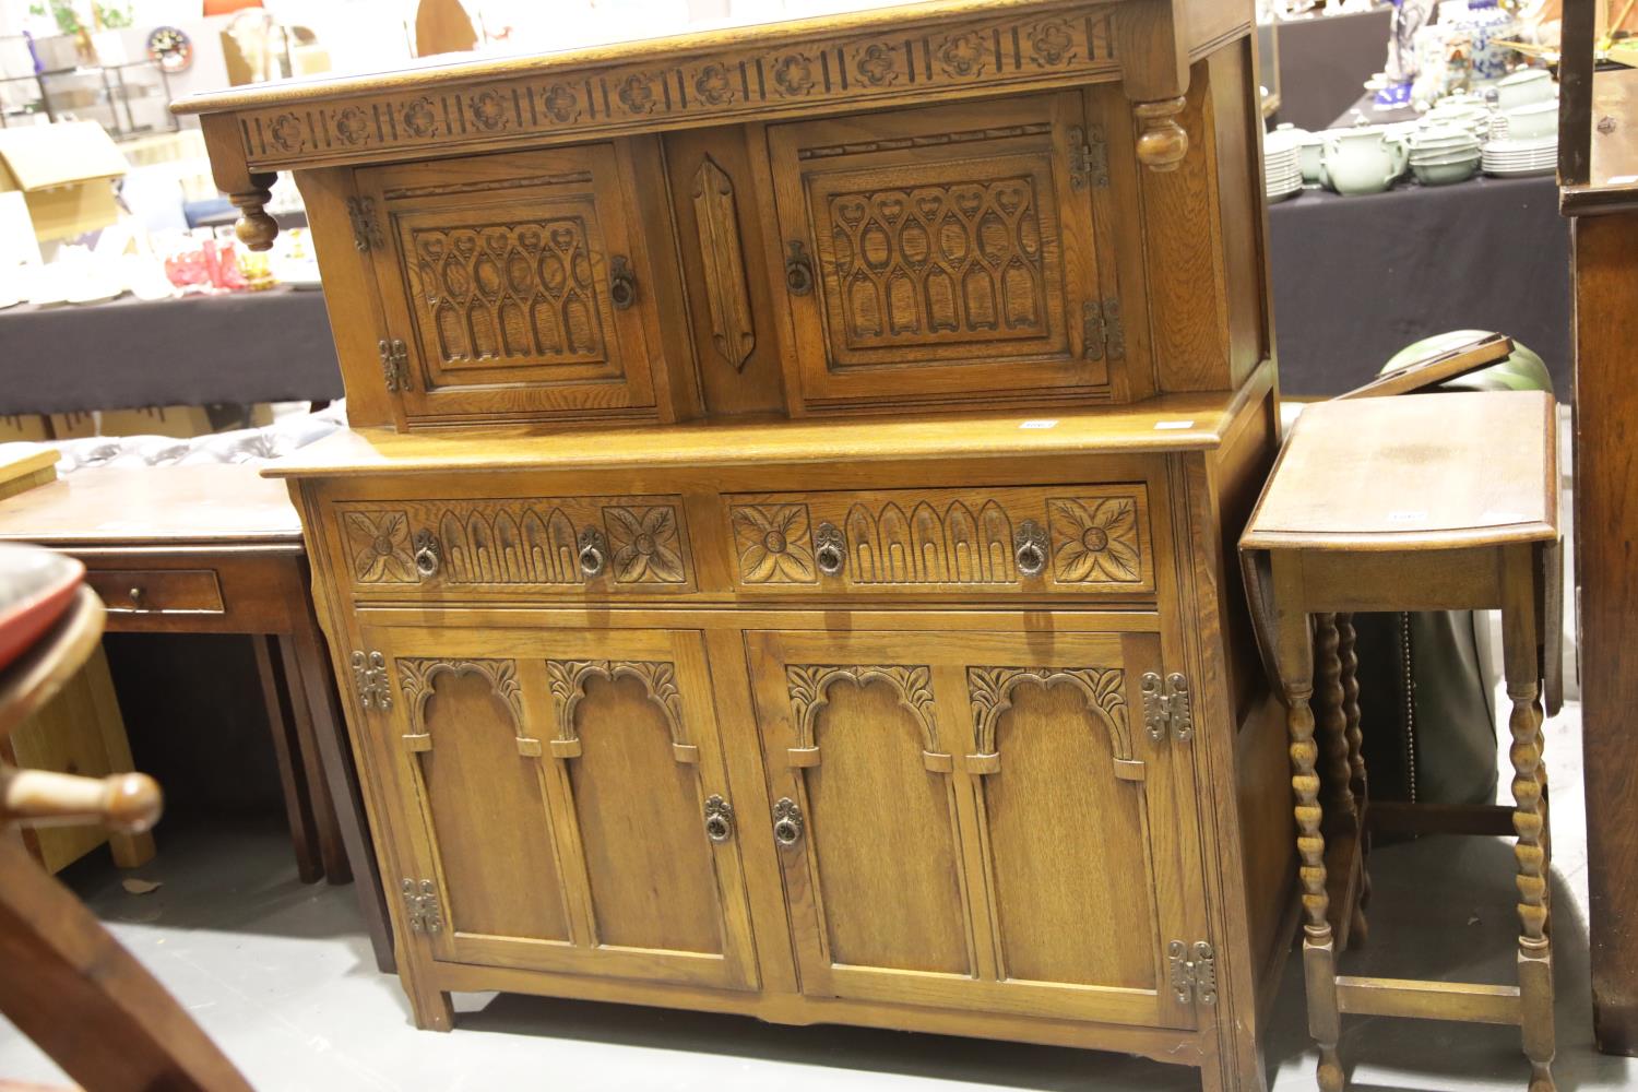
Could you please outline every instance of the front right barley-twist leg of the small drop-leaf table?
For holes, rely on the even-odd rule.
[[[1546,807],[1541,774],[1541,679],[1536,660],[1535,547],[1502,557],[1502,661],[1512,712],[1514,832],[1518,842],[1518,1000],[1530,1092],[1553,1092],[1553,941],[1548,938]]]

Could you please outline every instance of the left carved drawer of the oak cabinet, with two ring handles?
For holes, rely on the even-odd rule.
[[[685,594],[680,496],[347,501],[333,506],[357,591]]]

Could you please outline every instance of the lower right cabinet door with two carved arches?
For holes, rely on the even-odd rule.
[[[1138,714],[1153,634],[747,642],[806,992],[1194,1027],[1168,987],[1202,928],[1192,776]]]

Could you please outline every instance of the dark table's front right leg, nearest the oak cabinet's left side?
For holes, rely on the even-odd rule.
[[[398,961],[393,954],[391,920],[387,917],[387,894],[382,889],[375,845],[364,817],[364,796],[359,791],[346,722],[336,699],[329,657],[316,622],[306,619],[305,624],[298,624],[290,643],[301,679],[300,688],[292,693],[303,694],[313,712],[313,740],[323,758],[336,825],[341,828],[341,840],[352,861],[354,887],[359,896],[359,909],[364,914],[364,925],[370,933],[370,946],[375,951],[375,966],[383,974],[396,974]]]

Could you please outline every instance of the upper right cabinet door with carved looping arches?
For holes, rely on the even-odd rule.
[[[1091,141],[1075,93],[770,128],[804,399],[1104,388]]]

